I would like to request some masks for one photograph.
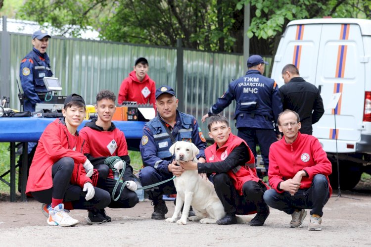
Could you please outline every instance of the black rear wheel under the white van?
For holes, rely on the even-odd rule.
[[[332,189],[338,189],[337,180],[337,163],[336,159],[330,159],[332,163],[332,173],[328,176]],[[340,189],[351,190],[353,189],[361,179],[362,165],[349,160],[339,160],[340,168]]]

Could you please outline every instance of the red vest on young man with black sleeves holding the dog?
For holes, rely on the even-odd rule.
[[[227,156],[232,152],[232,150],[239,146],[242,142],[246,144],[246,142],[243,141],[241,138],[231,133],[228,141],[226,142],[226,144],[224,144],[223,147],[216,149],[217,144],[214,143],[213,145],[205,149],[206,162],[217,162],[225,160]],[[246,162],[246,164],[252,164],[253,168],[250,168],[246,164],[242,164],[227,172],[227,174],[232,178],[234,188],[236,188],[239,195],[242,195],[242,186],[245,182],[251,180],[259,182],[260,180],[259,177],[256,175],[254,154],[247,146],[247,144],[246,147],[249,149],[251,157],[250,160]]]

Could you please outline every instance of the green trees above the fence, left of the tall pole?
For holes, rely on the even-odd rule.
[[[242,51],[243,11],[238,0],[28,0],[18,13],[78,37],[93,26],[110,41]],[[51,10],[51,11],[50,11]],[[65,26],[69,24],[69,26]]]

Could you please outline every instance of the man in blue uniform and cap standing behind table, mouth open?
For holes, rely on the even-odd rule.
[[[49,39],[50,35],[45,30],[33,33],[32,45],[34,48],[21,61],[19,78],[24,96],[24,111],[34,112],[36,103],[44,102],[47,89],[43,78],[53,75],[50,70],[50,59],[46,54]],[[35,145],[36,143],[28,144],[28,153]]]

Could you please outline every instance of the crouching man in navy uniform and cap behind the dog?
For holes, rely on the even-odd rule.
[[[192,142],[200,153],[198,162],[205,162],[206,140],[198,127],[197,120],[180,112],[178,99],[169,86],[161,86],[156,90],[156,107],[158,115],[143,127],[140,142],[140,153],[144,167],[139,173],[142,186],[152,185],[175,176],[180,176],[184,169],[176,165],[169,148],[176,141]],[[152,219],[165,219],[168,212],[163,194],[175,194],[173,180],[147,191],[154,205]]]

